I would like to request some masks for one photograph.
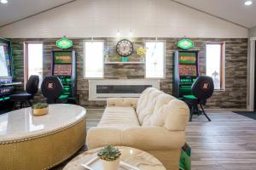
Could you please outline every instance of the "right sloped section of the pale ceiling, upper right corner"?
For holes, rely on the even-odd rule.
[[[246,0],[176,0],[241,26],[256,26],[256,0],[251,6],[244,5]]]

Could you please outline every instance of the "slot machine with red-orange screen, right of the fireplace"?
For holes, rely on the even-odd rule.
[[[191,86],[199,76],[198,51],[176,51],[174,53],[174,77],[172,94],[178,99],[191,95]]]

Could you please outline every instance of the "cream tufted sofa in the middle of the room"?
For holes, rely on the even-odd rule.
[[[166,169],[177,170],[188,121],[189,108],[183,101],[147,88],[139,99],[108,99],[101,122],[89,129],[86,143],[89,149],[109,144],[145,150]]]

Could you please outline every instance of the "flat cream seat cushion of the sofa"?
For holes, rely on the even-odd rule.
[[[133,107],[107,107],[98,127],[127,128],[140,126]]]

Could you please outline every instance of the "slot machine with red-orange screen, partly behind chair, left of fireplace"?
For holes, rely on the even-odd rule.
[[[51,72],[61,79],[63,93],[60,99],[68,99],[68,103],[76,103],[76,53],[74,50],[53,51]]]

